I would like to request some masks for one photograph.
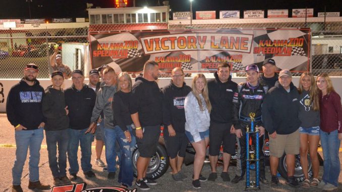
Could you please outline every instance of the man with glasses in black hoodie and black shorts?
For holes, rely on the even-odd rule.
[[[172,178],[182,181],[187,178],[182,172],[185,150],[189,143],[185,135],[184,100],[191,92],[191,88],[184,82],[182,68],[175,68],[171,72],[172,80],[165,86],[163,93],[163,124],[167,154],[170,158]]]

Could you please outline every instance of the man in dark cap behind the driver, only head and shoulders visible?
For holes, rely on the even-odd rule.
[[[267,85],[272,88],[276,81],[278,81],[278,75],[275,73],[277,67],[275,66],[275,60],[272,58],[266,58],[262,63],[262,74],[259,77],[261,84]]]

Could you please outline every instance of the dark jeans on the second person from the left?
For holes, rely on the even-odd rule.
[[[49,167],[53,177],[67,175],[67,150],[69,142],[68,129],[45,131]],[[58,159],[57,159],[58,144]]]

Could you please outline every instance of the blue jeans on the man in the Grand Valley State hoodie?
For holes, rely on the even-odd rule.
[[[16,160],[12,168],[13,185],[21,184],[21,175],[30,148],[29,156],[29,179],[31,182],[39,180],[40,145],[44,139],[43,129],[15,131]]]

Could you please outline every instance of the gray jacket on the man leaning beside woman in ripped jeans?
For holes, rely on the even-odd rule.
[[[106,129],[114,129],[113,112],[111,109],[111,100],[114,93],[117,92],[117,86],[102,85],[97,92],[96,102],[91,116],[91,122],[96,122],[102,110],[104,113],[104,127]]]

